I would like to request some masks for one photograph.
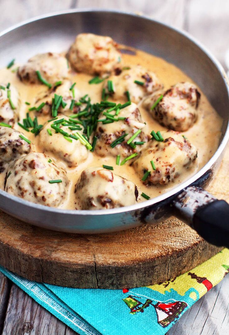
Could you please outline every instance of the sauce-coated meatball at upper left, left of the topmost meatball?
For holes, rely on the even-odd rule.
[[[36,71],[40,71],[42,78],[50,84],[68,78],[69,75],[67,59],[51,52],[33,56],[25,65],[19,67],[17,74],[24,83],[41,84]]]

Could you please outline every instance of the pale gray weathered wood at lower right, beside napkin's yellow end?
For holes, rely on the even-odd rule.
[[[229,329],[229,275],[196,302],[167,335],[221,335]]]

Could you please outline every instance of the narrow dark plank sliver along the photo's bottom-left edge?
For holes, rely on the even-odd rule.
[[[0,272],[0,334],[2,333],[10,293],[10,281]]]

